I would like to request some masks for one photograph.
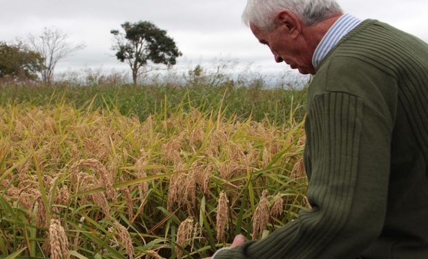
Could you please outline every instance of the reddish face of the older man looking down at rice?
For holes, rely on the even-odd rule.
[[[304,75],[315,74],[312,55],[307,48],[307,42],[300,37],[301,35],[292,37],[286,26],[277,26],[272,31],[262,30],[253,25],[250,28],[261,44],[269,46],[276,62],[284,61]]]

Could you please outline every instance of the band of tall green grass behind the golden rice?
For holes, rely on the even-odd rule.
[[[289,122],[290,111],[293,109],[294,119],[300,121],[304,116],[306,90],[284,88],[263,88],[257,84],[237,86],[228,81],[220,86],[210,87],[202,84],[179,85],[93,85],[55,86],[0,84],[0,106],[19,104],[22,102],[36,106],[46,103],[66,102],[75,107],[91,103],[93,109],[117,108],[126,116],[137,116],[144,121],[154,113],[165,110],[173,113],[177,106],[189,111],[191,108],[208,110],[219,108],[222,99],[224,115],[237,119],[251,116],[257,122],[268,119],[270,122],[282,124]]]

